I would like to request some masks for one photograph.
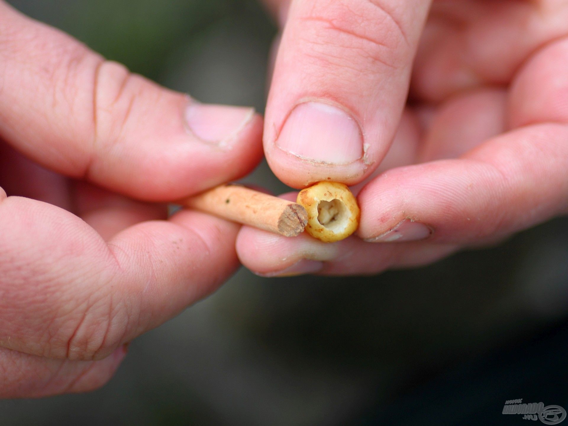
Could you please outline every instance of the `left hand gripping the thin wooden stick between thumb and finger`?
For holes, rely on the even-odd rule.
[[[128,197],[243,176],[261,118],[158,87],[3,2],[0,56],[0,398],[91,390],[238,264],[237,225]]]

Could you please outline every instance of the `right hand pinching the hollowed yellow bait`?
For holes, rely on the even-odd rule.
[[[568,212],[568,1],[271,4],[268,162],[296,188],[363,182],[361,225],[338,244],[243,228],[248,268],[424,265]]]

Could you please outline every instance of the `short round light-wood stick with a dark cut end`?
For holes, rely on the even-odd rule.
[[[180,204],[285,237],[299,235],[308,223],[306,209],[300,204],[230,183]]]

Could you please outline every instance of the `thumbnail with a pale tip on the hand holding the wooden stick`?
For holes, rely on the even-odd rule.
[[[185,113],[189,130],[204,142],[223,145],[254,116],[254,108],[206,105],[191,101]]]

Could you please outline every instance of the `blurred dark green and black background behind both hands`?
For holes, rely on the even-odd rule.
[[[264,110],[275,27],[253,0],[10,3],[172,89]],[[285,190],[265,164],[247,181]],[[518,424],[501,414],[504,400],[554,391],[545,405],[566,402],[550,377],[566,377],[567,280],[566,219],[371,278],[241,269],[135,340],[103,389],[0,402],[0,425],[461,424],[424,416],[466,400],[482,417],[463,424]],[[542,382],[509,382],[531,372]],[[381,423],[391,407],[407,414]]]

